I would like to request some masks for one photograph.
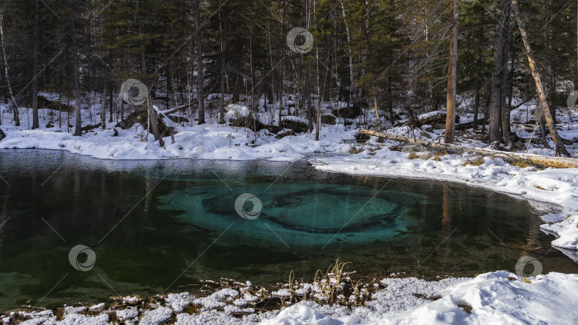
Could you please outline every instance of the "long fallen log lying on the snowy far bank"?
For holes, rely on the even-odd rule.
[[[573,158],[561,158],[561,157],[548,157],[543,155],[530,155],[526,153],[506,153],[499,150],[488,150],[482,148],[468,148],[462,147],[461,145],[452,145],[449,143],[435,143],[432,141],[407,138],[402,135],[392,135],[372,130],[360,130],[360,133],[372,135],[379,138],[385,138],[387,140],[400,141],[405,143],[417,143],[426,148],[432,148],[439,151],[447,151],[447,153],[455,153],[462,155],[463,153],[470,153],[472,155],[480,155],[482,157],[490,158],[502,158],[505,162],[511,165],[520,165],[521,163],[526,163],[527,165],[532,165],[535,167],[545,168],[574,168],[578,167],[578,159]]]

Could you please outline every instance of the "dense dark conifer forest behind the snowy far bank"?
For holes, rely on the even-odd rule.
[[[437,110],[452,130],[467,111],[487,143],[511,147],[512,110],[536,100],[545,135],[578,81],[571,1],[1,2],[0,98],[10,105],[0,123],[19,125],[29,108],[39,128],[38,109],[51,105],[39,93],[58,93],[57,110],[74,101],[75,135],[91,100],[102,104],[103,128],[126,118],[133,108],[118,93],[134,79],[154,105],[199,125],[225,123],[227,105],[243,103],[263,106],[281,128],[290,96],[310,132],[322,102],[347,103],[335,110],[347,117],[372,112],[362,123],[378,131]]]

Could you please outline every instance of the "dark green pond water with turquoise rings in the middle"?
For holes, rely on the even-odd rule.
[[[311,279],[338,257],[360,277],[473,276],[513,270],[523,254],[544,272],[578,272],[527,202],[450,183],[330,174],[306,160],[118,162],[49,150],[0,150],[0,176],[0,311],[194,292],[220,277],[268,286],[290,270]],[[255,220],[235,212],[243,193],[262,202]],[[88,272],[69,262],[77,244],[96,254]]]

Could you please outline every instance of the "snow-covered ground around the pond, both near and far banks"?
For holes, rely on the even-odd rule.
[[[2,104],[0,104],[1,106]],[[324,105],[330,114],[330,104]],[[335,106],[335,103],[333,103]],[[6,106],[0,107],[6,110]],[[22,110],[26,112],[26,110]],[[162,110],[159,110],[163,113]],[[514,130],[520,138],[530,138],[534,123],[529,106],[512,112]],[[557,116],[559,133],[568,141],[567,148],[578,158],[578,115],[560,110]],[[229,105],[228,118],[248,113],[242,105]],[[24,115],[26,116],[26,115]],[[462,113],[461,122],[471,120]],[[83,111],[83,125],[96,124],[96,114]],[[258,119],[274,124],[271,113],[260,113]],[[371,115],[368,115],[371,121]],[[185,126],[165,118],[167,125],[176,128],[175,143],[164,138],[161,148],[141,126],[128,130],[93,128],[81,137],[73,137],[63,128],[46,128],[54,120],[49,110],[41,110],[41,128],[28,130],[26,120],[21,127],[3,121],[0,128],[6,138],[0,148],[42,148],[68,150],[71,153],[100,159],[141,160],[169,158],[201,158],[209,160],[267,159],[295,161],[304,155],[319,153],[310,163],[319,170],[344,172],[353,175],[415,177],[432,180],[462,182],[556,205],[559,210],[542,217],[544,232],[553,234],[552,246],[578,261],[578,168],[538,169],[509,165],[500,158],[478,158],[473,155],[444,155],[415,152],[400,143],[380,142],[371,138],[367,143],[355,143],[359,119],[343,124],[323,125],[320,140],[314,134],[298,133],[275,138],[268,130],[258,133],[244,128],[217,125]],[[285,120],[306,122],[295,116]],[[343,120],[343,119],[341,119]],[[338,118],[338,122],[340,118]],[[375,122],[375,121],[374,121]],[[440,141],[443,130],[430,125],[420,129],[407,126],[387,128],[387,133]],[[115,135],[118,133],[118,135]],[[476,148],[490,148],[478,131],[465,130],[457,134],[457,144]],[[524,143],[525,145],[525,143]],[[552,142],[550,148],[554,148]],[[526,152],[526,150],[520,150]],[[528,153],[554,155],[554,150],[530,143]],[[578,272],[577,272],[578,273]],[[251,285],[223,288],[211,295],[198,297],[187,293],[158,296],[143,305],[141,299],[131,302],[121,299],[118,310],[102,304],[96,306],[68,306],[44,311],[12,311],[0,317],[4,323],[20,319],[22,324],[578,324],[578,274],[539,274],[529,279],[506,271],[481,274],[473,279],[442,279],[425,282],[416,278],[377,280],[372,299],[365,306],[318,304],[315,301],[295,301],[283,304],[281,310],[255,311],[256,290]],[[315,284],[310,284],[315,293]],[[308,287],[302,284],[301,289]],[[311,289],[313,288],[313,289]],[[286,292],[280,291],[278,297]],[[270,293],[275,296],[274,292]],[[128,300],[127,300],[128,299]],[[125,302],[122,302],[125,300]],[[288,300],[291,301],[290,299]],[[122,309],[120,309],[122,308]],[[253,310],[252,310],[253,309]],[[2,318],[4,317],[4,318]],[[574,321],[574,323],[573,323]],[[11,323],[14,324],[14,323]]]

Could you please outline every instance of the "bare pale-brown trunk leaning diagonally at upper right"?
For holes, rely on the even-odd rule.
[[[530,41],[528,33],[526,31],[526,26],[524,24],[524,21],[522,21],[522,17],[519,14],[517,0],[512,0],[512,9],[514,9],[514,14],[516,15],[516,20],[519,26],[519,32],[522,35],[522,41],[524,41],[524,48],[526,49],[526,54],[528,56],[529,68],[530,71],[532,71],[532,77],[534,78],[534,83],[536,83],[540,105],[542,110],[544,111],[544,119],[546,120],[550,133],[552,134],[552,139],[554,139],[554,143],[556,144],[556,155],[566,155],[567,157],[572,157],[572,155],[568,153],[568,150],[566,150],[564,143],[562,143],[562,139],[558,135],[558,130],[556,130],[554,120],[552,120],[552,115],[550,114],[550,109],[546,101],[546,95],[544,94],[544,88],[542,87],[542,81],[540,81],[540,74],[536,68],[536,62],[534,61],[532,47],[530,47]]]

